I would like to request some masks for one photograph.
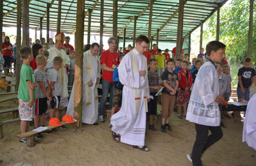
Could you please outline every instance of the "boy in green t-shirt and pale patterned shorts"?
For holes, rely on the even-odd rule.
[[[23,64],[20,70],[20,84],[18,90],[19,98],[19,114],[20,114],[20,133],[29,131],[29,123],[35,117],[35,75],[30,62],[33,60],[33,54],[29,47],[20,49],[20,57]],[[20,139],[20,142],[25,143],[26,138]]]

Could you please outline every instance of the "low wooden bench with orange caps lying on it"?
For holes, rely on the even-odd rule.
[[[70,123],[70,124],[76,125],[76,123],[78,123],[78,121],[75,122],[75,123]],[[68,124],[68,123],[64,122],[64,121],[61,121],[61,124]],[[51,126],[51,125],[46,126],[46,127],[47,127],[46,130],[52,130],[53,128],[57,128],[56,126]],[[43,130],[42,132],[44,132],[46,130]],[[20,139],[26,138],[26,146],[33,147],[36,144],[36,142],[35,142],[35,135],[37,133],[40,133],[40,132],[35,132],[35,131],[31,130],[31,131],[26,132],[26,133],[20,133],[20,134],[16,135],[16,137],[18,137]]]

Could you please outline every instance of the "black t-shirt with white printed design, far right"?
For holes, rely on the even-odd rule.
[[[243,87],[248,88],[252,84],[252,77],[256,75],[253,68],[239,68],[237,75],[241,75]],[[239,82],[237,87],[240,87]]]

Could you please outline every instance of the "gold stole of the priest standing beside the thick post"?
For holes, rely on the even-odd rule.
[[[92,54],[90,50],[85,52],[85,57],[86,57],[87,74],[92,79]],[[95,56],[95,58],[96,58],[96,61],[98,62],[99,57]],[[97,65],[99,64],[97,63]],[[88,83],[84,87],[85,87],[85,94],[86,94],[86,105],[90,105],[92,103],[91,89],[88,86]],[[95,99],[98,100],[98,91],[97,91],[96,85],[94,86],[94,93],[95,93]]]

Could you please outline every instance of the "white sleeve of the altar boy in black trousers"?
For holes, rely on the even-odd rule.
[[[216,99],[216,94],[214,94],[214,91],[212,91],[214,72],[216,71],[213,71],[211,68],[207,68],[206,66],[205,70],[200,72],[203,73],[197,75],[196,77],[196,80],[200,80],[200,84],[196,84],[196,88],[198,88],[198,95],[202,98],[204,105],[209,105]]]

